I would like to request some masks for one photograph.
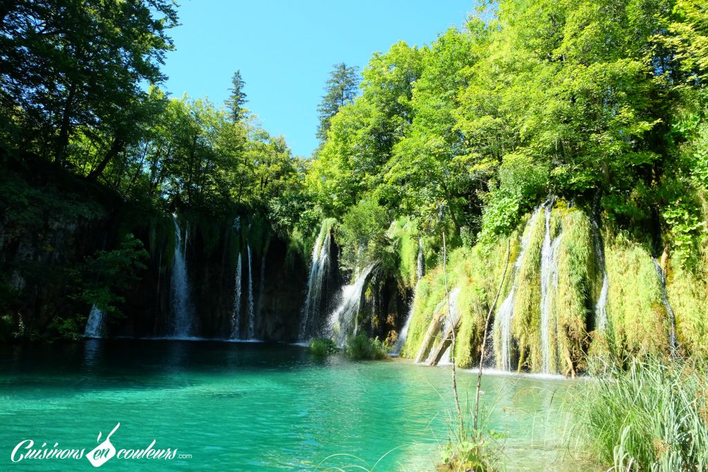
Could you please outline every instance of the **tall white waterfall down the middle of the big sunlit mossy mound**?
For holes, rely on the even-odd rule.
[[[544,207],[546,216],[546,233],[541,249],[541,352],[543,356],[543,373],[551,373],[551,293],[558,286],[558,264],[556,253],[561,242],[562,233],[551,240],[551,213],[553,201]],[[553,371],[556,369],[553,367]]]

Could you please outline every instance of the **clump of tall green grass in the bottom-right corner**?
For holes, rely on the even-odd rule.
[[[578,436],[615,471],[708,470],[708,371],[659,357],[593,367],[577,398]]]

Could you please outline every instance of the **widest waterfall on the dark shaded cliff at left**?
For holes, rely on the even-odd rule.
[[[187,277],[187,240],[189,230],[185,232],[182,242],[182,230],[177,220],[177,215],[172,215],[175,225],[175,253],[172,262],[172,316],[173,336],[187,337],[192,334],[194,321],[194,307],[190,296],[189,279]]]

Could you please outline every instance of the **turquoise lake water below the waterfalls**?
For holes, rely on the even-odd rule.
[[[463,408],[475,383],[459,372]],[[504,433],[509,471],[583,470],[561,439],[564,398],[578,385],[483,377],[486,427]],[[153,449],[191,458],[114,458],[102,470],[370,469],[383,456],[376,471],[431,471],[452,411],[449,367],[397,359],[317,361],[299,346],[173,340],[0,347],[2,470],[93,470],[85,456],[11,463],[11,453],[24,439],[88,453],[120,422],[115,449],[154,439]]]

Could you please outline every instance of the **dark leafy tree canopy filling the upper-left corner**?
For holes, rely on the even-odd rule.
[[[76,128],[135,119],[141,84],[164,79],[166,30],[177,24],[169,0],[15,1],[2,13],[0,106],[19,123],[19,147],[60,167]]]

